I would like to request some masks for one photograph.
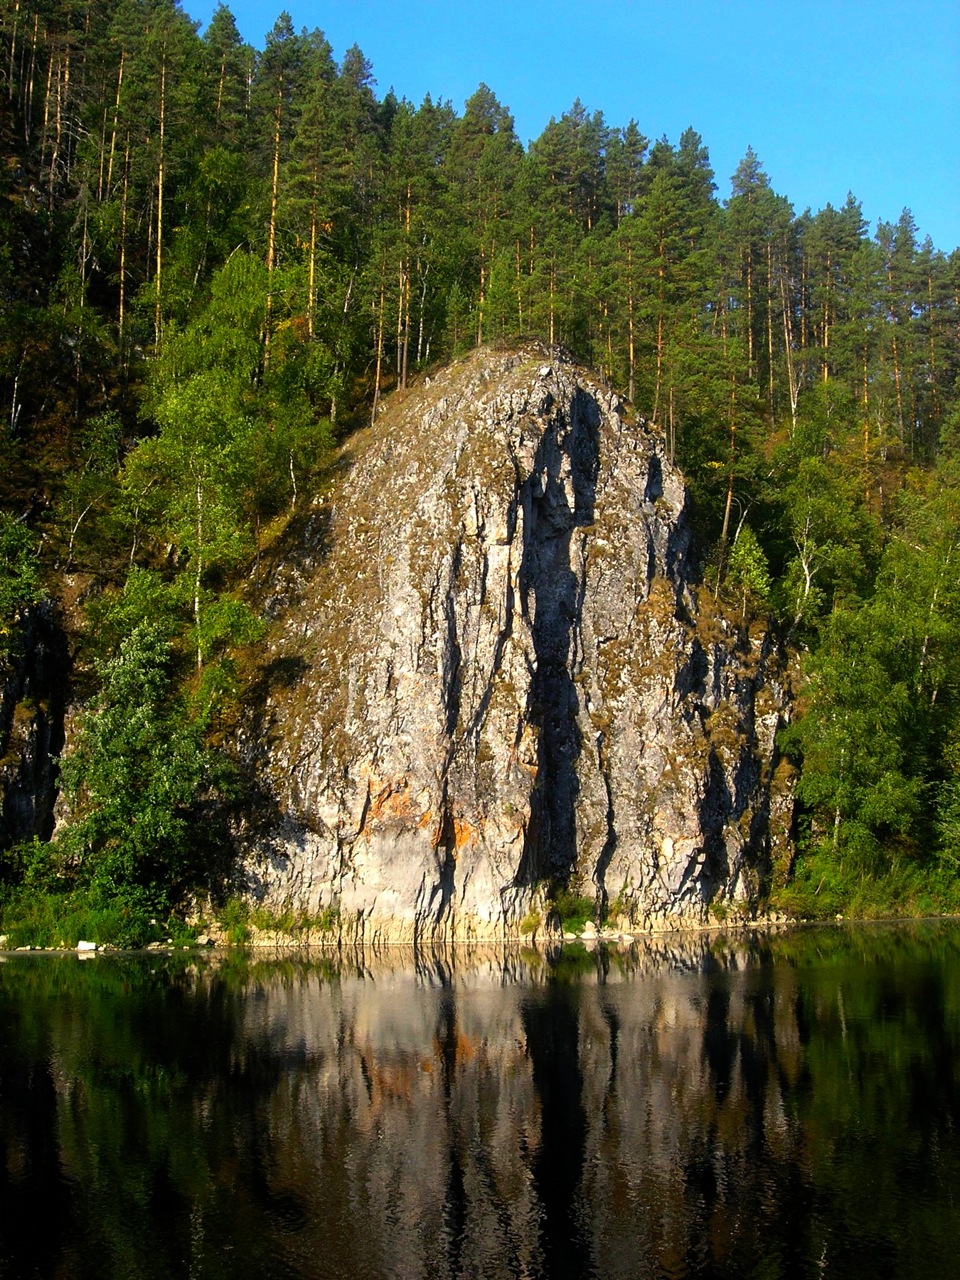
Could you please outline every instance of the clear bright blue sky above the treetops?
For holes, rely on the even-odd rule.
[[[216,0],[183,0],[201,23]],[[262,47],[283,0],[234,0]],[[960,0],[287,0],[342,58],[360,45],[379,93],[457,111],[484,81],[524,143],[579,97],[650,138],[692,125],[721,198],[748,145],[797,212],[847,191],[872,227],[913,210],[960,246]]]

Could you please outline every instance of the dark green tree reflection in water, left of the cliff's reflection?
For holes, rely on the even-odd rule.
[[[243,1201],[252,1204],[260,1193],[257,1103],[285,1064],[251,1041],[238,1068],[229,1028],[239,993],[201,991],[186,966],[154,973],[151,964],[163,969],[157,960],[42,960],[0,970],[12,1028],[4,1083],[14,1094],[26,1088],[37,1111],[46,1100],[54,1152],[37,1160],[47,1148],[31,1142],[26,1166],[3,1188],[5,1204],[8,1192],[19,1194],[45,1207],[45,1221],[50,1206],[50,1230],[38,1236],[36,1212],[5,1213],[0,1257],[35,1260],[51,1249],[56,1262],[36,1274],[183,1275],[196,1222],[227,1196],[237,1211],[236,1233],[221,1242],[228,1256],[244,1249],[256,1258],[265,1247],[259,1212],[244,1213]],[[5,1087],[8,1151],[19,1112],[9,1100]],[[242,1161],[241,1135],[248,1139]],[[220,1274],[220,1263],[205,1274]],[[230,1274],[227,1257],[223,1274]]]

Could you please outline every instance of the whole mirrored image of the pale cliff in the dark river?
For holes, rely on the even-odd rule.
[[[298,1256],[360,1239],[367,1275],[659,1274],[714,1219],[753,1230],[731,1198],[768,1106],[783,1128],[755,1002],[618,978],[271,993],[306,1047],[270,1107],[273,1192],[312,1206]]]

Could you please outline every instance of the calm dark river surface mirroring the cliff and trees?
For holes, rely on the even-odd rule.
[[[960,1275],[960,925],[0,964],[0,1277]]]

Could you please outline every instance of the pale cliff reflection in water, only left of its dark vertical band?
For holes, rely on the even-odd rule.
[[[502,997],[412,974],[269,992],[257,1024],[306,1050],[270,1105],[271,1190],[308,1206],[298,1258],[497,1276],[526,1256],[538,1274],[539,1106],[517,1000]]]

